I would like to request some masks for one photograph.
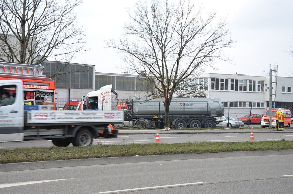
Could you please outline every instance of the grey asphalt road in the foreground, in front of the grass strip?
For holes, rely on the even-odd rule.
[[[0,193],[292,193],[292,161],[273,155],[11,171],[0,173]]]

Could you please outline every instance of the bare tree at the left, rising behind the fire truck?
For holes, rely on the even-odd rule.
[[[84,51],[81,0],[0,0],[0,60],[41,63]]]

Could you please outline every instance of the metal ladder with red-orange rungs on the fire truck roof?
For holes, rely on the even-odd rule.
[[[43,74],[45,67],[41,64],[22,64],[22,63],[10,63],[0,62],[0,75],[18,75],[29,77],[46,77]]]

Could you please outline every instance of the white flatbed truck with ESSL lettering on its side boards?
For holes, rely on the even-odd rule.
[[[88,146],[93,138],[117,137],[108,125],[124,121],[120,110],[24,110],[23,92],[21,80],[0,81],[0,142],[49,139],[59,147]]]

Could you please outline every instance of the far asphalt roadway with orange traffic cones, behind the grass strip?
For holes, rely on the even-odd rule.
[[[163,134],[159,135],[163,143],[182,143],[182,142],[243,142],[250,141],[250,133],[223,133],[223,134]],[[293,133],[254,133],[254,141],[268,140],[293,140]],[[98,138],[93,139],[93,145],[98,144],[147,144],[154,143],[156,135],[118,135],[117,138]],[[31,147],[51,147],[51,140],[31,140],[24,142],[0,143],[0,149],[16,149]],[[72,146],[71,144],[69,146]]]

